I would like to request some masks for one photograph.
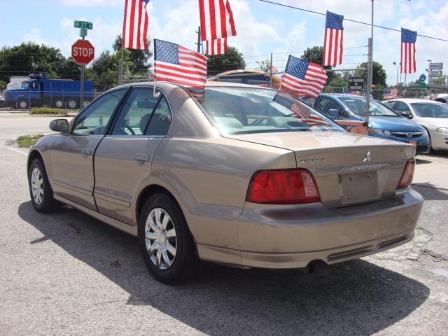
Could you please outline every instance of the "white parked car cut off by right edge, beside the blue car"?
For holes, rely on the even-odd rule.
[[[427,99],[391,99],[383,102],[401,116],[423,126],[430,136],[431,148],[448,150],[448,106]]]

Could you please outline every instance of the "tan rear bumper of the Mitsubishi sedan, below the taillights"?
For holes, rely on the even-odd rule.
[[[247,204],[239,217],[240,251],[198,244],[200,258],[262,268],[300,268],[360,258],[414,237],[423,197],[412,189],[391,199],[340,209],[320,203],[260,207]]]

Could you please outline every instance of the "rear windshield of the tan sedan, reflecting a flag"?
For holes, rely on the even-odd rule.
[[[289,94],[242,87],[208,87],[197,98],[224,134],[345,132]]]

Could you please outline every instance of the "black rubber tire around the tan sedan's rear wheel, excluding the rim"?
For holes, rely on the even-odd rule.
[[[153,244],[156,244],[156,241],[146,239],[145,237],[146,221],[150,214],[153,213],[153,210],[155,211],[155,209],[164,210],[169,215],[169,218],[171,218],[171,221],[169,221],[169,223],[166,225],[165,232],[168,232],[168,230],[172,228],[175,229],[176,237],[166,238],[166,241],[169,242],[172,246],[174,244],[174,241],[170,239],[176,239],[176,254],[174,256],[174,259],[172,260],[172,264],[169,266],[167,266],[167,263],[165,262],[165,256],[163,255],[160,256],[160,265],[156,265],[155,262],[158,261],[155,261],[154,258],[157,260],[156,255],[158,255],[160,250],[158,249],[157,252],[154,251],[154,254],[152,254],[151,257],[149,248]],[[152,233],[155,234],[155,232]],[[168,237],[168,235],[164,237]],[[183,283],[185,281],[193,279],[197,275],[200,263],[199,258],[197,257],[197,251],[195,243],[193,241],[193,237],[191,237],[190,235],[190,231],[188,230],[188,226],[185,218],[183,217],[181,209],[179,209],[179,206],[168,195],[162,193],[155,194],[145,202],[139,220],[139,244],[146,267],[148,267],[149,272],[151,272],[151,274],[153,274],[155,279],[157,279],[158,281],[167,284]],[[158,244],[156,244],[156,246],[157,245]],[[163,246],[165,245],[167,245],[167,243],[165,243],[164,241],[161,246],[161,251],[163,251]],[[168,249],[165,248],[165,251],[168,251]],[[167,255],[168,258],[172,257],[171,253],[168,253]],[[164,262],[166,267],[165,269],[163,268]]]

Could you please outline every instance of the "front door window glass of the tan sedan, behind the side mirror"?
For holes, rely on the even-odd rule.
[[[126,90],[110,92],[90,104],[76,118],[71,133],[75,135],[106,134],[107,125],[109,124],[112,113],[123,98],[125,92]]]

